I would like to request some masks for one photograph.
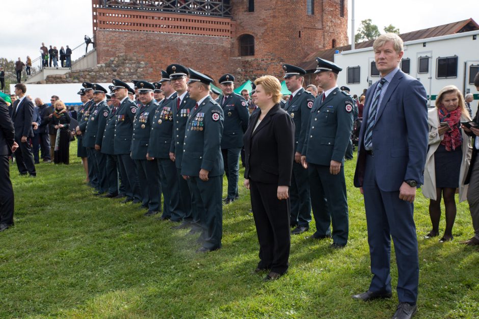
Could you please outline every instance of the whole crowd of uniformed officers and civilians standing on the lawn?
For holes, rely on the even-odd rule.
[[[312,217],[315,231],[307,240],[331,238],[334,250],[348,244],[344,161],[353,123],[360,119],[354,185],[364,195],[373,277],[368,289],[353,298],[392,296],[392,237],[399,300],[393,318],[411,318],[419,279],[413,218],[417,188],[422,185],[430,199],[432,230],[425,238],[439,235],[443,199],[446,228],[440,242],[453,240],[459,190],[459,200],[469,202],[475,231],[461,243],[479,245],[479,119],[477,114],[471,119],[467,100],[454,86],[444,87],[428,110],[422,84],[398,68],[404,48],[397,35],[381,35],[374,52],[381,78],[359,99],[338,87],[342,68],[320,58],[317,87],[303,88],[302,68],[282,66],[292,92],[287,101],[270,75],[257,78],[252,92],[240,95],[233,92],[232,74],[219,78],[218,92],[211,89],[210,77],[171,64],[158,82],[132,81],[134,88],[120,79],[108,89],[83,83],[76,125],[58,97],[52,97],[54,110],[35,99],[39,119],[48,124],[35,122],[34,104],[25,86],[17,84],[18,100],[10,112],[0,101],[0,111],[10,113],[0,117],[2,174],[8,176],[4,159],[14,152],[20,174],[36,175],[28,142],[35,124],[48,126],[39,141],[54,145],[56,163],[68,164],[69,143],[76,136],[77,156],[94,195],[140,204],[145,216],[162,212],[158,220],[171,222],[175,230],[190,229],[198,235],[197,252],[206,253],[222,246],[223,205],[240,197],[242,158],[260,246],[255,272],[276,280],[289,268],[290,236],[309,231]],[[479,74],[474,85],[479,90]],[[48,161],[46,148],[41,149]],[[222,199],[224,174],[228,185]],[[0,194],[7,193],[11,184]],[[13,225],[13,193],[8,198],[1,207],[0,230]]]

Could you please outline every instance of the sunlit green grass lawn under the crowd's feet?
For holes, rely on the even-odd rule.
[[[259,248],[243,178],[240,200],[223,210],[223,248],[196,254],[187,230],[144,217],[138,205],[93,196],[78,158],[71,159],[69,166],[37,165],[36,179],[11,167],[16,226],[0,233],[0,318],[385,318],[395,311],[394,288],[390,300],[351,298],[371,279],[355,161],[345,164],[348,246],[332,251],[331,241],[294,236],[288,274],[265,283],[265,274],[253,273]],[[431,228],[428,203],[422,195],[415,203],[415,317],[477,318],[479,250],[458,244],[473,233],[468,204],[458,205],[455,240],[440,244],[422,239]],[[312,222],[305,235],[313,230]],[[394,254],[391,262],[395,287]]]

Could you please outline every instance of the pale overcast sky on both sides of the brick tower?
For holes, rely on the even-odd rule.
[[[268,0],[257,0],[268,1]],[[351,41],[351,2],[348,0]],[[233,1],[234,3],[234,1]],[[288,1],[284,1],[285,4]],[[393,5],[396,7],[394,8]],[[92,35],[91,0],[2,0],[2,28],[0,28],[0,57],[25,60],[38,57],[42,42],[45,45],[81,44],[85,34]],[[401,33],[430,28],[473,18],[479,23],[476,0],[403,0],[398,2],[356,0],[355,29],[361,20],[372,19],[382,32],[392,24]]]

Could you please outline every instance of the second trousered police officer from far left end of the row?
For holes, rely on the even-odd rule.
[[[88,118],[83,143],[85,147],[87,147],[87,150],[90,148],[93,149],[93,169],[98,178],[97,195],[100,195],[108,191],[108,181],[106,174],[107,157],[100,152],[100,145],[98,144],[101,144],[103,130],[105,124],[107,124],[110,108],[105,99],[107,89],[96,83],[92,85],[92,88],[95,105]]]

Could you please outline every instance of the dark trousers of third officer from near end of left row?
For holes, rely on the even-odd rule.
[[[159,182],[163,193],[163,215],[174,222],[183,218],[181,215],[178,180],[176,178],[175,162],[170,158],[156,158]]]

